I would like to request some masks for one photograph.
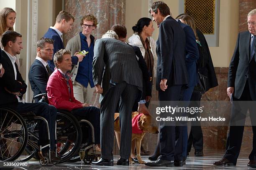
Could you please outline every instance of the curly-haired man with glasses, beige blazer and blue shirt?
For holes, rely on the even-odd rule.
[[[95,37],[91,33],[97,27],[97,19],[93,15],[85,15],[80,25],[82,26],[82,32],[78,32],[67,42],[66,49],[71,51],[71,55],[82,50],[89,52],[82,62],[73,66],[71,71],[73,75],[71,79],[74,85],[74,97],[79,102],[89,103],[95,90],[92,79]]]

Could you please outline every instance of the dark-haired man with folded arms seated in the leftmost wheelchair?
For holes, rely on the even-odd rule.
[[[15,63],[15,55],[20,54],[20,50],[23,49],[22,35],[15,31],[5,31],[1,38],[4,47],[1,54],[1,63],[5,68],[5,74],[3,77],[0,77],[0,105],[10,107],[18,113],[34,112],[36,116],[44,117],[49,123],[50,144],[52,150],[51,161],[58,161],[59,157],[56,157],[53,151],[55,147],[55,122],[57,110],[54,106],[49,106],[44,102],[22,102],[22,97],[26,93],[27,85]],[[46,133],[46,124],[44,122],[39,125],[39,134],[39,145],[46,145],[46,143],[48,143],[48,134]]]

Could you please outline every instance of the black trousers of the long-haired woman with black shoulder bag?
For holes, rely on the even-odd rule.
[[[200,101],[201,101],[202,95],[200,95],[198,92],[193,92],[191,96],[191,102],[189,104],[189,107],[200,107]],[[200,116],[199,114],[197,116]],[[195,117],[195,116],[193,116]],[[189,134],[189,139],[187,142],[187,151],[190,152],[192,144],[195,150],[203,150],[203,135],[202,135],[202,128],[200,125],[200,121],[195,122],[196,125],[191,126],[191,131]]]

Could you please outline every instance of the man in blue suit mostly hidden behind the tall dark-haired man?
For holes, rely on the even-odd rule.
[[[185,53],[186,53],[186,66],[187,66],[187,73],[188,73],[188,88],[185,90],[184,95],[183,95],[183,101],[184,102],[184,107],[189,106],[189,101],[192,96],[193,90],[195,85],[197,84],[197,66],[196,66],[196,61],[199,59],[199,51],[197,48],[197,43],[196,43],[196,38],[195,38],[195,33],[193,32],[192,28],[189,25],[186,25],[182,23],[180,20],[177,20],[179,25],[183,28],[185,35],[186,35],[186,45],[185,45]],[[184,115],[184,116],[189,116],[189,115]],[[182,145],[182,156],[184,157],[184,160],[187,158],[187,125],[184,124],[182,126],[182,143],[179,141],[181,139],[177,139],[176,145]]]

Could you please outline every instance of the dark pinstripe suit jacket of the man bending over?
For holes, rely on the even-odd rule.
[[[96,40],[92,62],[94,84],[102,85],[100,102],[115,83],[135,85],[142,92],[142,72],[133,48],[119,40],[101,38]],[[138,96],[140,100],[141,95]]]

